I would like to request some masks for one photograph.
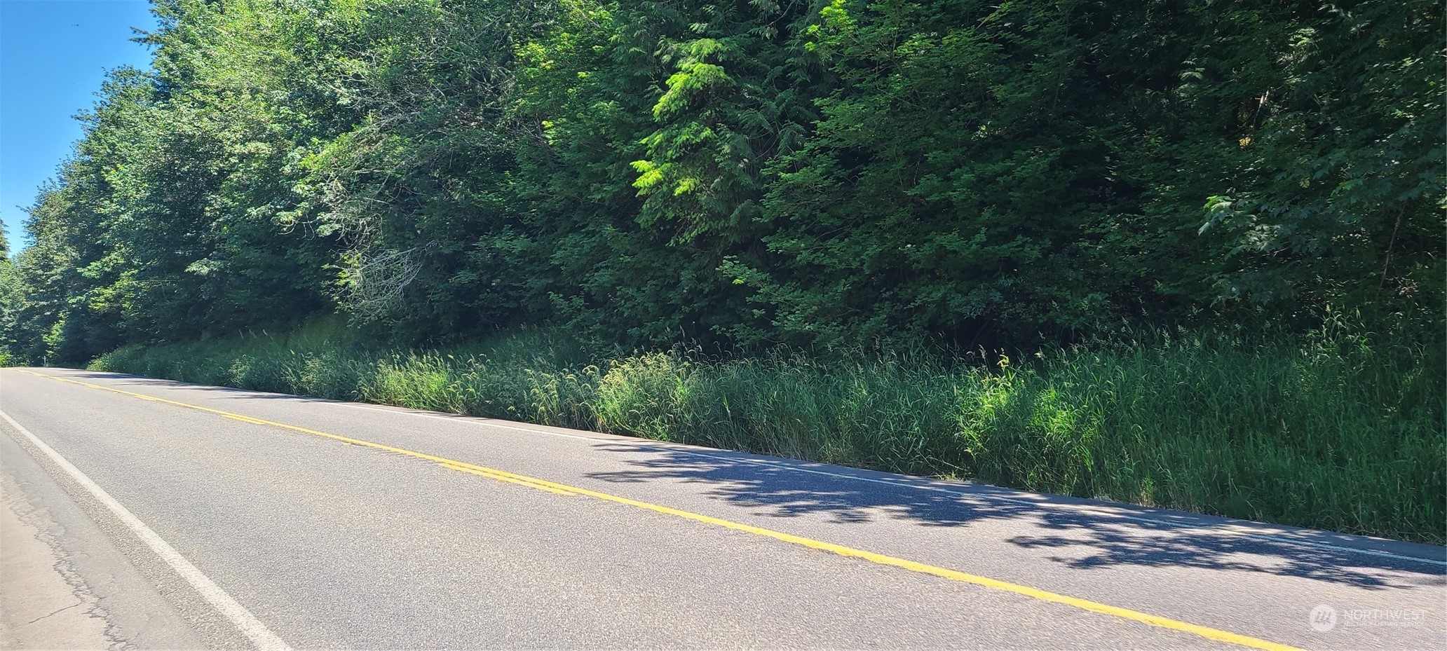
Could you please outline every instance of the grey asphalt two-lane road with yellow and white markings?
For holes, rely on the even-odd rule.
[[[82,370],[0,431],[7,648],[1447,648],[1441,547]]]

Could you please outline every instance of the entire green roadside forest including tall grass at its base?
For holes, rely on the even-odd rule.
[[[6,363],[1447,527],[1437,0],[153,12]]]

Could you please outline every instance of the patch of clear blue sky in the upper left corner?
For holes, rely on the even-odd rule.
[[[0,0],[0,220],[25,240],[25,211],[81,137],[110,68],[150,65],[130,27],[156,26],[145,0]]]

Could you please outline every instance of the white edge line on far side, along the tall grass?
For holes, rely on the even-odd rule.
[[[407,414],[407,415],[415,415],[415,417],[423,417],[423,418],[437,418],[437,420],[441,420],[441,421],[453,421],[453,422],[462,421],[462,422],[469,422],[469,424],[479,425],[479,427],[496,427],[496,428],[502,428],[502,430],[517,430],[517,431],[525,431],[525,433],[531,433],[531,434],[548,434],[548,435],[564,437],[564,438],[582,438],[585,441],[622,443],[622,444],[631,444],[631,446],[638,447],[638,448],[648,448],[648,447],[663,448],[663,450],[676,451],[676,453],[682,453],[682,454],[692,454],[695,457],[718,459],[718,460],[724,460],[724,461],[737,461],[737,463],[748,463],[748,464],[754,464],[754,466],[764,466],[764,467],[773,467],[773,469],[780,469],[780,470],[793,470],[793,472],[797,472],[797,473],[823,475],[823,476],[829,476],[829,477],[852,479],[855,482],[870,482],[870,483],[883,483],[886,486],[912,488],[912,489],[916,489],[916,490],[933,490],[933,492],[939,492],[939,493],[958,495],[958,496],[962,496],[962,498],[974,498],[974,499],[984,499],[984,501],[991,501],[993,499],[993,501],[998,501],[998,502],[1009,502],[1009,503],[1017,503],[1017,505],[1033,506],[1033,508],[1046,506],[1046,508],[1053,508],[1053,509],[1064,509],[1064,511],[1074,511],[1074,512],[1084,512],[1084,514],[1094,514],[1094,515],[1106,515],[1106,516],[1120,518],[1120,519],[1129,519],[1129,521],[1134,521],[1134,522],[1149,522],[1149,524],[1155,524],[1155,525],[1166,525],[1166,527],[1176,528],[1176,529],[1210,531],[1210,532],[1214,532],[1214,534],[1227,534],[1227,535],[1237,535],[1237,537],[1244,537],[1244,538],[1268,540],[1268,541],[1272,541],[1272,542],[1282,542],[1282,544],[1291,544],[1291,545],[1315,547],[1315,548],[1321,548],[1321,550],[1344,551],[1344,553],[1351,553],[1351,554],[1378,556],[1378,557],[1383,557],[1383,558],[1396,558],[1396,560],[1405,560],[1405,561],[1412,561],[1412,563],[1427,563],[1427,564],[1435,564],[1435,566],[1447,567],[1447,560],[1424,558],[1424,557],[1420,557],[1420,556],[1392,554],[1391,551],[1365,550],[1365,548],[1360,548],[1360,547],[1341,547],[1341,545],[1333,545],[1330,542],[1315,542],[1315,541],[1307,541],[1307,540],[1288,538],[1288,537],[1282,537],[1282,535],[1262,534],[1259,531],[1242,531],[1240,528],[1236,528],[1236,525],[1211,527],[1211,525],[1201,525],[1201,524],[1172,522],[1169,519],[1145,518],[1145,516],[1140,516],[1140,515],[1126,515],[1126,514],[1119,514],[1119,512],[1114,512],[1114,511],[1101,509],[1101,508],[1092,508],[1092,506],[1087,506],[1087,505],[1061,505],[1061,503],[1052,503],[1052,502],[1035,502],[1035,501],[1029,501],[1029,499],[1006,498],[1006,496],[1001,496],[1001,495],[972,493],[972,492],[965,492],[965,490],[952,490],[952,489],[941,488],[941,486],[920,486],[917,483],[910,483],[910,482],[893,482],[893,480],[888,480],[888,479],[874,479],[874,477],[861,477],[861,476],[857,476],[857,475],[831,473],[828,470],[812,470],[812,469],[807,469],[807,467],[797,467],[797,466],[790,466],[790,464],[786,464],[786,463],[763,461],[763,460],[758,460],[758,459],[725,457],[725,456],[719,456],[719,454],[708,454],[708,453],[700,453],[700,451],[693,451],[693,450],[684,450],[684,448],[682,448],[677,444],[673,444],[670,441],[650,441],[650,443],[611,441],[608,438],[601,438],[601,437],[589,437],[589,435],[580,435],[580,434],[564,434],[564,433],[560,433],[560,431],[540,430],[540,428],[532,428],[532,427],[504,425],[504,424],[499,424],[499,422],[493,422],[493,420],[491,420],[491,418],[488,418],[488,420],[479,420],[476,417],[467,417],[467,415],[462,415],[462,414],[440,415],[440,414],[427,414],[424,411],[414,411],[414,409],[407,409],[407,408],[388,409],[385,407],[372,407],[372,405],[362,405],[362,404],[356,404],[356,402],[340,402],[340,401],[336,401],[336,402],[328,401],[326,404],[340,405],[340,407],[350,407],[353,409],[385,411],[385,412],[391,412],[391,414]]]

